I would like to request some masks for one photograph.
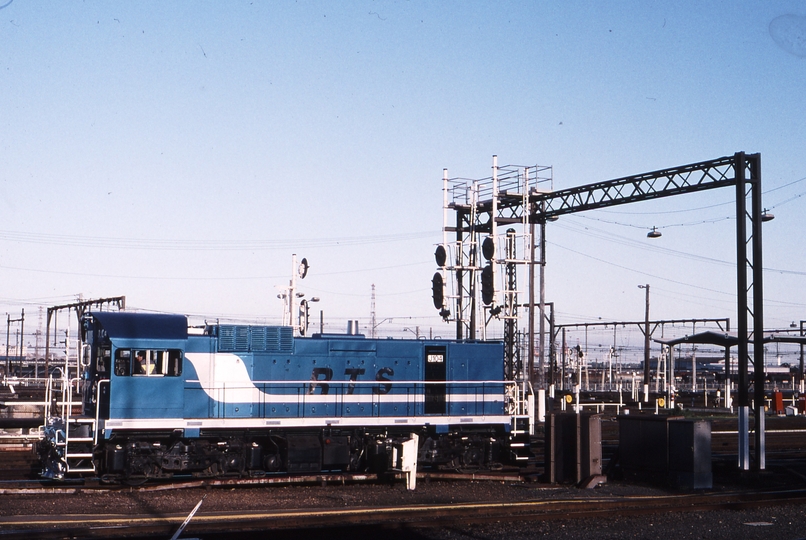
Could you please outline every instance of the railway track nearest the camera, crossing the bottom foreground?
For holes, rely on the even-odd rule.
[[[206,539],[247,537],[250,533],[339,530],[355,527],[444,528],[501,520],[575,520],[641,516],[669,512],[746,510],[781,504],[806,504],[806,490],[742,491],[713,494],[561,498],[511,502],[362,506],[350,508],[296,508],[284,510],[199,511],[186,529],[187,535]],[[4,539],[168,537],[187,516],[158,515],[9,516],[3,519]]]

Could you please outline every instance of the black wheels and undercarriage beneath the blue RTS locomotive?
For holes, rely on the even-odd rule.
[[[139,482],[177,475],[204,478],[273,473],[381,474],[393,469],[393,449],[409,435],[332,430],[179,440],[119,435],[105,441],[95,455],[98,472],[106,481]],[[424,432],[420,441],[422,468],[496,469],[505,461],[502,460],[504,434]]]

